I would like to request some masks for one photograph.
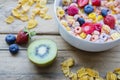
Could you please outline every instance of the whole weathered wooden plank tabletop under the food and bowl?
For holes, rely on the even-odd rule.
[[[104,77],[106,72],[120,67],[120,46],[105,52],[90,53],[78,50],[65,42],[59,35],[54,20],[53,3],[48,4],[49,14],[53,19],[45,21],[37,18],[39,25],[34,29],[37,35],[33,37],[33,40],[48,38],[56,42],[58,56],[53,65],[43,69],[32,64],[26,54],[27,46],[20,47],[19,53],[12,56],[5,43],[5,36],[8,33],[16,35],[24,25],[27,25],[20,20],[16,20],[11,25],[5,23],[4,19],[16,3],[17,0],[0,0],[0,80],[69,80],[62,74],[60,63],[70,57],[75,59],[73,71],[80,67],[89,67],[99,71]]]

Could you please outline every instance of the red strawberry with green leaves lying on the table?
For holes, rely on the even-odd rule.
[[[35,34],[36,33],[34,31],[30,32],[25,28],[24,30],[19,31],[19,33],[17,34],[16,43],[19,45],[27,44],[31,37]]]

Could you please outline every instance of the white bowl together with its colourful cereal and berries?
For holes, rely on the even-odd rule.
[[[72,46],[90,52],[120,43],[120,0],[55,0],[54,13],[61,36]]]

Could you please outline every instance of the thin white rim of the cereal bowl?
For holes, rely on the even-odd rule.
[[[60,26],[58,26],[58,27],[63,28],[63,29],[64,29],[70,36],[72,36],[73,38],[78,39],[78,40],[81,40],[81,41],[83,41],[83,42],[90,43],[90,44],[98,44],[98,45],[101,45],[101,44],[110,44],[110,43],[114,43],[114,42],[117,42],[117,41],[120,40],[120,38],[118,38],[118,39],[116,39],[116,40],[112,40],[112,41],[109,41],[109,42],[95,43],[95,42],[87,41],[87,40],[84,40],[84,39],[81,39],[81,38],[78,38],[78,37],[72,35],[71,33],[69,33],[69,32],[65,29],[65,27],[60,23],[60,20],[59,20],[58,17],[57,17],[57,14],[56,14],[56,8],[57,8],[56,3],[57,3],[57,1],[58,1],[58,0],[54,0],[54,15],[55,15],[55,18],[56,18],[57,22],[59,22],[59,24],[60,24]]]

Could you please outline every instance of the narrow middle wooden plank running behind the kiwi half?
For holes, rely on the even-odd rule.
[[[0,50],[2,49],[8,49],[8,45],[5,42],[5,36],[6,34],[2,34],[0,35]],[[64,41],[64,39],[60,36],[60,35],[36,35],[32,38],[32,41],[37,40],[37,39],[42,39],[42,38],[47,38],[47,39],[51,39],[53,41],[56,42],[57,46],[58,46],[58,50],[67,50],[67,51],[71,51],[71,50],[77,50],[78,49],[72,47],[70,44],[68,44],[66,41]],[[32,42],[31,41],[31,42]],[[26,46],[20,46],[20,49],[25,49],[28,47],[28,45]],[[120,51],[120,45],[112,48],[109,50],[109,52],[119,52]]]

